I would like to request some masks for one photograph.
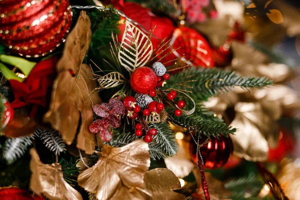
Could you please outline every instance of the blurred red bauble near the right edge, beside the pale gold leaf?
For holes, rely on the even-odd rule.
[[[296,143],[293,136],[283,128],[280,128],[278,143],[275,148],[269,148],[267,161],[280,162],[288,153],[292,153]]]

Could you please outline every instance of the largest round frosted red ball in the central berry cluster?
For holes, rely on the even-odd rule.
[[[130,85],[132,89],[140,94],[147,94],[154,89],[157,83],[155,72],[146,66],[136,68],[130,76]]]

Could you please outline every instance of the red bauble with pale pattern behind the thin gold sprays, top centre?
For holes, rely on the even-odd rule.
[[[192,28],[176,28],[173,31],[169,45],[171,45],[173,49],[176,49],[176,52],[180,56],[183,56],[195,66],[213,67],[214,65],[211,48],[208,42]],[[175,54],[171,53],[164,57],[162,59],[163,61],[160,62],[164,63],[176,58]]]

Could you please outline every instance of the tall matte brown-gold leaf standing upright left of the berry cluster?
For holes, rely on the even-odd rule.
[[[45,122],[61,132],[68,145],[75,137],[81,116],[76,146],[88,154],[94,151],[95,146],[95,136],[88,130],[92,123],[92,103],[100,102],[97,95],[91,94],[96,88],[96,81],[92,80],[90,67],[81,65],[90,37],[90,20],[85,11],[81,11],[56,65],[58,74],[53,82],[49,110],[43,116]]]

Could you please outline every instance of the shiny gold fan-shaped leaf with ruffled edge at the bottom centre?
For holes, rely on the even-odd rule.
[[[120,186],[134,187],[143,183],[150,166],[149,147],[143,140],[135,140],[122,147],[104,145],[97,163],[81,171],[78,184],[95,192],[98,199],[109,199]]]

